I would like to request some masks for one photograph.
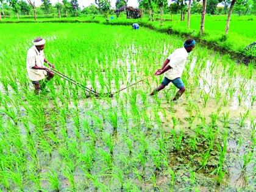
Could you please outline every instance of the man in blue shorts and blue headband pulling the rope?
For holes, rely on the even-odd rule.
[[[185,68],[185,63],[187,62],[188,53],[193,51],[194,47],[196,46],[196,41],[189,39],[185,41],[183,45],[183,48],[176,49],[174,52],[172,52],[172,54],[169,55],[169,57],[163,63],[162,68],[155,72],[155,76],[160,76],[161,74],[165,73],[165,77],[162,84],[157,87],[151,93],[151,95],[163,90],[170,82],[179,88],[179,91],[176,93],[176,96],[174,96],[172,101],[176,101],[184,93],[185,86],[182,82],[181,76]]]

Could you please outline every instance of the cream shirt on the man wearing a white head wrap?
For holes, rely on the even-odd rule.
[[[34,66],[45,67],[44,65],[44,52],[38,51],[35,46],[27,51],[27,75],[32,81],[44,79],[47,72],[42,69],[32,69]]]

